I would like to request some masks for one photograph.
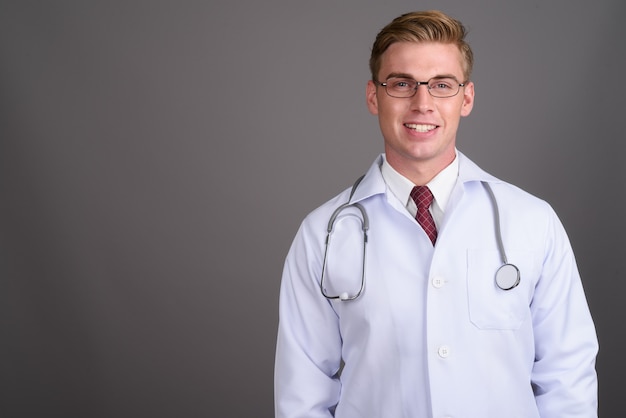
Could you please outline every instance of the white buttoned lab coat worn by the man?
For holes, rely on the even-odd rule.
[[[276,417],[596,417],[595,328],[552,208],[459,153],[459,178],[433,248],[387,189],[381,162],[352,198],[369,217],[358,299],[320,293],[328,220],[349,189],[306,217],[289,251]],[[502,261],[480,181],[495,193],[504,247],[521,272],[510,291],[495,285]],[[335,226],[325,279],[331,294],[360,285],[355,220],[344,213]]]

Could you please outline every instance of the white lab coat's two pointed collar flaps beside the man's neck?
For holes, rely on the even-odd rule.
[[[457,150],[459,157],[459,184],[465,184],[473,181],[486,181],[489,183],[500,183],[501,180],[487,173],[478,167],[472,160]],[[380,154],[372,163],[363,180],[354,191],[351,202],[359,202],[377,194],[384,194],[387,186],[380,172],[383,163],[383,154]]]

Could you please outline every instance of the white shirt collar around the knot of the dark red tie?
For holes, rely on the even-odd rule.
[[[383,156],[384,157],[384,156]],[[388,162],[387,158],[383,158],[381,165],[381,173],[385,183],[391,192],[402,202],[404,206],[411,209],[413,200],[411,199],[411,190],[415,184],[411,180],[398,173]],[[458,152],[455,153],[454,161],[446,168],[441,170],[428,184],[428,188],[432,192],[437,205],[437,209],[443,213],[452,194],[452,189],[456,184],[459,175],[459,157]]]

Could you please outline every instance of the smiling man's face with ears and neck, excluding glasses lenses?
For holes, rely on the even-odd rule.
[[[454,77],[462,83],[461,52],[453,44],[394,43],[382,56],[378,81],[397,76],[417,81]],[[367,85],[367,105],[378,115],[387,161],[410,179],[416,178],[417,172],[422,179],[427,173],[432,178],[454,160],[459,121],[470,114],[473,103],[471,82],[447,98],[431,96],[425,85],[410,98],[391,97],[372,81]]]

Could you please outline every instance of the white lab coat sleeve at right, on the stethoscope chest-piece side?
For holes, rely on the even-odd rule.
[[[598,342],[570,242],[550,208],[545,257],[531,305],[532,384],[542,418],[597,417]]]

